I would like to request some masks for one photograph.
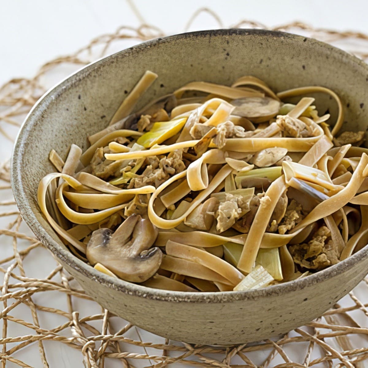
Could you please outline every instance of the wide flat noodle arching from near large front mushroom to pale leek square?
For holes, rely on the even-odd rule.
[[[190,245],[184,245],[169,240],[166,244],[166,253],[174,257],[200,263],[225,277],[233,286],[237,285],[244,277],[235,267],[231,266],[230,263],[206,251],[191,247]]]

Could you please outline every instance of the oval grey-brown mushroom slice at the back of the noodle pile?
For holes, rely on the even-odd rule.
[[[268,121],[280,110],[280,101],[270,97],[244,97],[230,103],[235,106],[231,114],[246,117],[253,123]]]

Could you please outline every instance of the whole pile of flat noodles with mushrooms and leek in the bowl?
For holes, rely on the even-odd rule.
[[[75,256],[113,277],[176,291],[241,291],[304,277],[368,241],[364,132],[343,132],[333,91],[275,94],[258,78],[191,82],[132,113],[146,72],[110,125],[72,145],[38,188]],[[314,92],[336,100],[319,116]],[[300,96],[296,105],[284,103]]]

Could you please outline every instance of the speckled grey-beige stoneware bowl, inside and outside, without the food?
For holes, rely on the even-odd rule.
[[[242,75],[274,91],[303,85],[333,89],[345,107],[344,129],[366,130],[368,67],[332,46],[282,32],[226,29],[156,39],[93,63],[47,92],[29,113],[15,144],[12,185],[21,214],[36,237],[86,292],[136,325],[190,343],[259,341],[321,315],[368,272],[368,247],[346,261],[294,282],[248,292],[182,293],[149,289],[96,272],[73,256],[43,219],[36,203],[39,180],[53,171],[50,149],[65,158],[71,143],[104,128],[146,70],[159,78],[137,109],[195,80],[231,84]],[[333,101],[317,107],[336,116]]]

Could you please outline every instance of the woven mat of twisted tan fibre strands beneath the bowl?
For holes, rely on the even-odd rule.
[[[204,13],[223,27],[216,14],[201,9],[185,30]],[[233,27],[267,28],[250,21]],[[363,60],[368,58],[368,35],[362,33],[312,29],[300,23],[275,29],[311,36]],[[32,79],[12,79],[4,84],[0,88],[2,144],[10,152],[25,114],[61,77],[101,56],[159,36],[163,32],[154,26],[123,26],[115,33],[92,40],[70,56],[46,63]],[[79,361],[68,363],[71,367],[368,367],[368,279],[321,318],[278,341],[226,350],[165,340],[113,316],[80,289],[22,222],[12,197],[9,171],[7,161],[0,167],[1,368],[59,367],[54,355],[57,351],[68,355],[70,349],[80,352]],[[10,336],[10,331],[17,332],[17,336]],[[35,349],[39,351],[39,360],[31,361],[31,351]]]

